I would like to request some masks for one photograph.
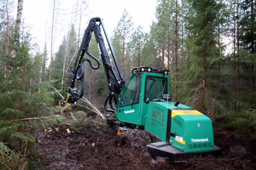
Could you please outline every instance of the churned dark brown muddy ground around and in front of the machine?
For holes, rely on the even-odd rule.
[[[140,149],[120,145],[117,130],[94,126],[78,130],[57,127],[37,133],[36,148],[43,154],[44,170],[233,170],[256,169],[256,139],[215,129],[222,155],[169,163],[152,159]]]

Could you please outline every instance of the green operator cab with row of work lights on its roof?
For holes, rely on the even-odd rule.
[[[168,72],[145,66],[133,68],[132,76],[118,99],[118,120],[144,125],[149,102],[165,102],[163,96],[169,94]]]

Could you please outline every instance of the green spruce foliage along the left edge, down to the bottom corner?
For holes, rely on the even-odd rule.
[[[28,161],[41,122],[33,117],[53,113],[53,99],[41,83],[45,60],[43,54],[34,51],[38,46],[31,44],[28,33],[19,34],[12,20],[7,31],[6,25],[0,29],[0,66],[8,68],[0,71],[0,169],[33,169]],[[19,120],[26,118],[32,120]]]

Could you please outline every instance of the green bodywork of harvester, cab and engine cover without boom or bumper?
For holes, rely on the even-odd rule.
[[[159,99],[146,96],[154,94]],[[117,119],[122,125],[144,128],[184,153],[214,150],[211,119],[186,105],[160,99],[162,94],[169,94],[168,74],[133,73],[119,96]]]

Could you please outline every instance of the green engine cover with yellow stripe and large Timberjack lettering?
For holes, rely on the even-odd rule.
[[[184,152],[214,150],[212,121],[199,111],[173,102],[150,102],[145,130]]]

